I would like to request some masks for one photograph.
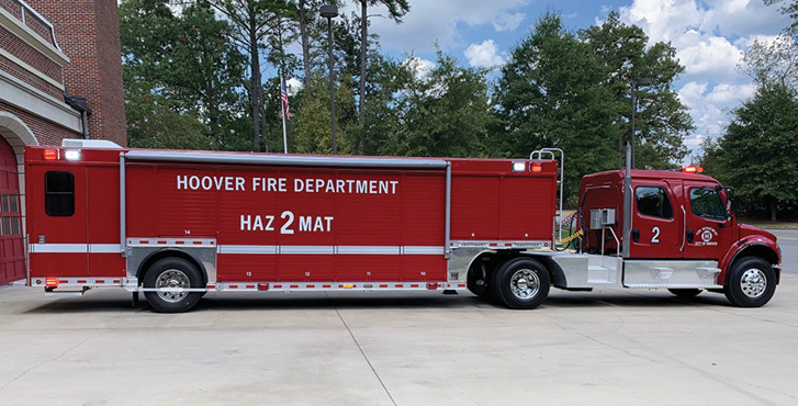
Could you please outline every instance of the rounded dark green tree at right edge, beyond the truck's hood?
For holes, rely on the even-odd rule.
[[[798,93],[774,83],[760,87],[753,99],[734,110],[733,119],[711,151],[738,190],[748,211],[765,210],[776,221],[798,203]],[[767,159],[756,159],[767,157]]]

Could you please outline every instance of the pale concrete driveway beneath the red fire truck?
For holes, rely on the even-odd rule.
[[[798,258],[798,232],[778,232]],[[789,237],[795,236],[795,237]],[[793,243],[788,243],[793,241]],[[0,405],[798,404],[798,268],[762,308],[721,294],[209,294],[0,289]]]

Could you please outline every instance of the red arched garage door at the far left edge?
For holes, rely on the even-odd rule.
[[[16,157],[0,138],[0,283],[25,278]]]

